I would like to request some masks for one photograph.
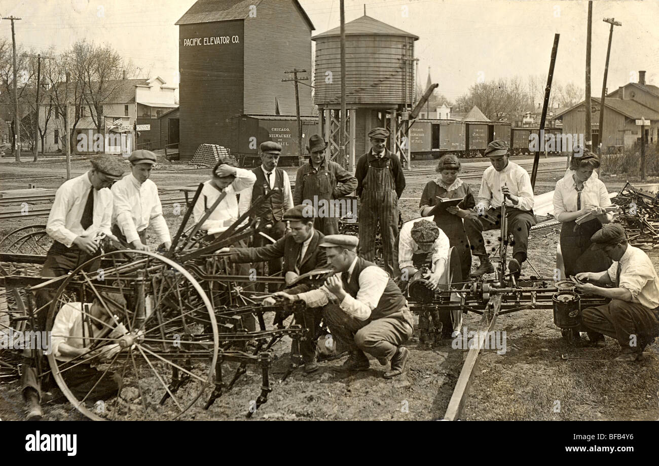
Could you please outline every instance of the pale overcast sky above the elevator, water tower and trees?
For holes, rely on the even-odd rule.
[[[320,34],[339,25],[339,0],[300,0]],[[109,42],[150,76],[178,84],[178,26],[195,0],[0,0],[0,14],[16,22],[25,47],[67,49],[78,39]],[[479,76],[541,74],[546,78],[554,33],[561,35],[555,79],[585,83],[587,1],[569,0],[346,0],[349,22],[366,14],[419,36],[415,56],[423,84],[433,82],[449,99],[465,93]],[[600,95],[609,24],[614,28],[608,88],[637,81],[659,86],[659,1],[600,0],[592,13],[592,95]],[[282,21],[286,18],[281,18]],[[11,39],[10,22],[0,34]],[[275,52],[275,51],[273,51]]]

